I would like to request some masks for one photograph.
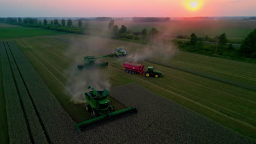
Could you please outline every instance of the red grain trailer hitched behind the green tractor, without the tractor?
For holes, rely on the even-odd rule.
[[[132,63],[132,62],[125,62],[123,63],[123,66],[125,67],[126,73],[130,74],[144,74],[144,65]]]

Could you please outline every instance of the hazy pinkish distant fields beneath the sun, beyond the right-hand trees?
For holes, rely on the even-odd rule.
[[[83,22],[85,26],[88,23],[88,28],[93,31],[108,31],[108,21],[89,21]],[[74,25],[77,22],[74,21]],[[115,25],[119,28],[125,25],[128,29],[135,32],[141,32],[143,28],[148,30],[157,27],[165,35],[176,37],[177,35],[190,35],[195,33],[198,37],[209,35],[215,37],[216,35],[226,33],[228,38],[245,38],[250,32],[256,28],[256,21],[191,21],[191,20],[172,20],[170,22],[132,22],[132,21],[116,21]]]

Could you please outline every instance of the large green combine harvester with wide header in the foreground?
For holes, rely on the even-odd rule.
[[[85,109],[91,113],[91,116],[94,117],[88,121],[75,124],[75,127],[81,133],[83,129],[89,128],[91,125],[96,125],[101,122],[112,121],[115,118],[126,115],[127,113],[136,113],[137,109],[133,106],[120,110],[113,111],[114,107],[111,104],[112,101],[108,100],[108,95],[110,94],[107,89],[103,91],[96,91],[96,89],[89,86],[92,91],[85,93],[85,100],[88,105],[85,106]]]

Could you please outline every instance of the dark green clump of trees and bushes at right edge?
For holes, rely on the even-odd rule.
[[[177,39],[173,41],[180,49],[185,51],[222,56],[231,59],[256,59],[256,29],[254,29],[244,40],[242,40],[240,47],[234,47],[232,43],[229,43],[230,41],[225,33],[217,35],[216,38],[214,38],[217,39],[216,45],[202,43],[203,40],[209,39],[211,38],[208,37],[208,35],[206,35],[204,39],[199,39],[195,33],[192,33],[190,35],[190,41],[182,41]]]

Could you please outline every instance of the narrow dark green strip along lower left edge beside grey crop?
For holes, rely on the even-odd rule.
[[[3,49],[2,42],[0,41],[0,49]],[[0,50],[1,51],[1,50]],[[1,53],[1,52],[0,52]],[[5,106],[4,88],[3,88],[3,75],[2,75],[2,63],[0,56],[0,143],[8,144],[8,121],[7,111]]]

